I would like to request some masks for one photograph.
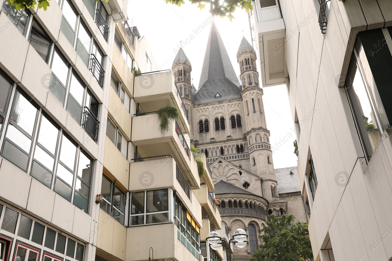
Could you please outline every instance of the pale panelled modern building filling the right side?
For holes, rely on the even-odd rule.
[[[314,259],[391,260],[392,3],[253,7],[262,85],[287,86]]]

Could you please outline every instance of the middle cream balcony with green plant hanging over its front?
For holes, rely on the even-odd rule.
[[[176,132],[177,122],[169,120],[169,130],[162,135],[157,114],[133,117],[132,121],[131,141],[134,146],[138,146],[140,151],[144,152],[143,156],[171,154],[191,189],[198,189],[200,178],[196,161],[192,153],[189,153],[188,144],[178,127],[178,133]]]

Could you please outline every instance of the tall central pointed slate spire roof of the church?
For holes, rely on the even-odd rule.
[[[229,55],[223,45],[222,38],[212,22],[205,50],[199,87],[193,95],[194,104],[226,101],[241,97],[236,73]],[[220,97],[215,97],[219,92]]]

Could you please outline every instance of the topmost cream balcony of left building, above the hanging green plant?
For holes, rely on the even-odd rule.
[[[178,125],[185,134],[189,133],[188,112],[178,92],[171,70],[149,72],[134,79],[134,101],[145,112],[154,112],[170,103],[180,110]]]

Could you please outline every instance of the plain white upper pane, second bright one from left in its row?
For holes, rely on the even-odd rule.
[[[58,129],[45,116],[42,116],[38,142],[54,155],[56,153],[57,138]]]

